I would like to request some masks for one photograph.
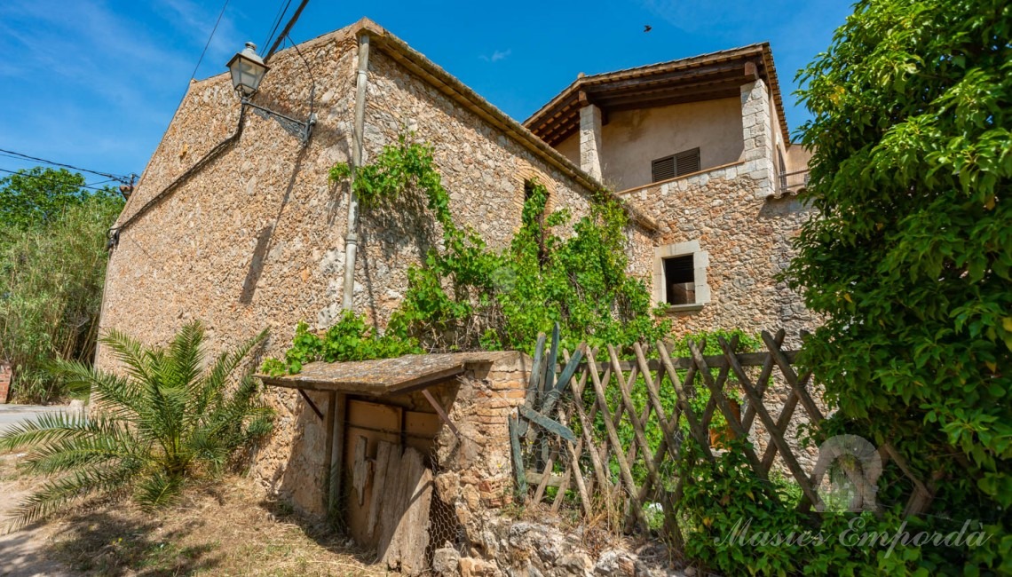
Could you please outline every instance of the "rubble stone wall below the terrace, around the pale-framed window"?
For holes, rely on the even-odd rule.
[[[697,241],[708,253],[710,301],[698,310],[670,313],[678,335],[783,328],[787,346],[796,347],[800,331],[812,330],[816,318],[775,275],[789,263],[790,242],[812,212],[793,196],[761,198],[761,181],[750,177],[746,166],[671,180],[624,197],[657,220],[657,246]]]

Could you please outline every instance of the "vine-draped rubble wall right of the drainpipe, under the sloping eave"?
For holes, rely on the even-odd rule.
[[[569,209],[571,224],[561,227],[558,234],[572,234],[572,224],[588,214],[589,195],[583,186],[474,112],[418,82],[380,51],[369,54],[365,126],[366,162],[384,146],[397,143],[405,131],[433,143],[435,165],[450,194],[456,224],[473,227],[492,248],[507,247],[520,229],[527,180],[536,179],[545,186],[549,212]],[[390,288],[378,293],[356,287],[355,308],[376,315],[382,324],[407,286],[405,269],[397,266],[398,261],[419,258],[439,233],[431,219],[409,216],[417,213],[417,208],[401,205],[362,215],[359,251],[367,257],[356,263],[356,277],[390,277]],[[628,249],[630,269],[644,270],[650,262],[651,235],[635,225],[627,230],[635,237]],[[427,238],[420,231],[427,231]],[[330,305],[333,314],[340,306],[337,297]]]

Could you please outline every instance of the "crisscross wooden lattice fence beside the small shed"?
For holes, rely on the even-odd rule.
[[[705,342],[689,342],[687,356],[672,357],[672,345],[658,342],[636,344],[630,358],[622,359],[610,345],[561,349],[558,327],[547,348],[541,335],[525,404],[509,423],[519,497],[553,513],[577,507],[588,516],[602,504],[618,503],[626,530],[647,530],[645,505],[653,503],[663,509],[668,534],[680,543],[677,519],[686,478],[675,475],[672,465],[683,442],[694,439],[712,462],[722,438],[737,437],[752,441],[735,446],[756,476],[789,476],[803,493],[800,508],[821,505],[821,479],[803,467],[791,431],[792,419],[814,428],[824,419],[811,392],[812,375],[795,372],[796,351],[783,349],[783,330],[761,336],[760,352],[738,352],[737,337],[719,336],[716,355],[702,353]],[[773,389],[781,393],[775,400]],[[891,446],[879,454],[894,459],[916,487],[908,513],[926,509],[930,489]],[[859,474],[846,473],[855,481]]]

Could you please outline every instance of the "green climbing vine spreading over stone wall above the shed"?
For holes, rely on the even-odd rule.
[[[347,164],[330,169],[335,183]],[[429,350],[528,350],[537,333],[562,327],[564,346],[630,345],[668,335],[670,321],[653,310],[650,291],[629,276],[624,208],[604,190],[574,222],[566,209],[546,214],[549,193],[528,182],[521,227],[509,247],[491,249],[474,229],[454,223],[449,193],[432,148],[402,136],[351,180],[363,213],[407,195],[424,199],[441,239],[408,270],[408,288],[382,334],[348,313],[324,335],[300,325],[285,359],[265,370],[296,373],[315,359],[352,360]],[[572,225],[572,234],[562,231]],[[356,348],[361,347],[361,348]]]

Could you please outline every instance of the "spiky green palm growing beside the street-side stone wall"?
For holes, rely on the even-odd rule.
[[[100,341],[122,366],[113,374],[58,361],[72,389],[90,391],[90,415],[50,413],[0,435],[0,450],[27,449],[21,467],[49,477],[14,512],[14,525],[41,519],[87,496],[132,495],[144,507],[173,502],[187,480],[214,477],[237,449],[271,430],[273,413],[248,373],[232,375],[267,331],[204,367],[204,331],[188,323],[166,347],[119,331]]]

